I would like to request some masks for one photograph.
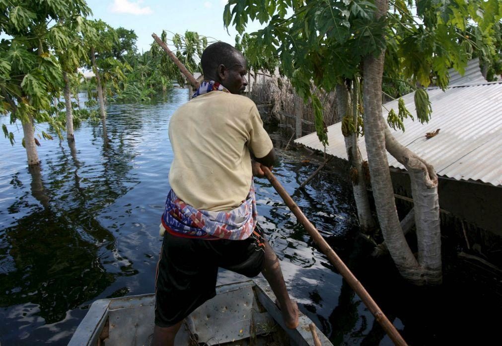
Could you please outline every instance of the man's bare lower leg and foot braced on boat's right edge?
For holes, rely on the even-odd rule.
[[[295,329],[298,326],[298,305],[289,298],[279,258],[277,258],[276,253],[266,240],[264,261],[262,274],[269,282],[272,291],[274,291],[277,297],[286,326],[290,329]]]

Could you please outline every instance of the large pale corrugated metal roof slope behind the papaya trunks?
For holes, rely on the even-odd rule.
[[[415,121],[405,119],[405,132],[392,130],[396,139],[434,166],[440,176],[456,180],[474,180],[502,186],[502,82],[428,90],[432,104],[429,123],[417,121],[414,93],[403,97]],[[398,102],[383,106],[387,117],[391,108],[397,112]],[[441,129],[430,139],[426,132]],[[341,124],[328,126],[328,154],[347,159]],[[316,133],[295,140],[309,148],[323,150]],[[359,148],[366,159],[364,137]],[[389,165],[403,168],[390,154]]]

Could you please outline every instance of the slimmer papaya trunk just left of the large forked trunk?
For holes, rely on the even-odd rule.
[[[357,95],[357,93],[354,93]],[[349,93],[345,85],[336,86],[336,104],[339,117],[345,115],[352,117],[355,115],[355,124],[357,124],[357,97],[353,97],[352,109],[349,105]],[[352,114],[350,114],[352,111]],[[346,133],[345,133],[346,134]],[[366,182],[362,171],[362,161],[359,155],[359,146],[357,141],[357,131],[351,132],[345,136],[345,149],[347,150],[348,162],[350,164],[350,177],[352,178],[352,191],[354,192],[354,201],[357,208],[357,218],[359,226],[363,232],[374,228],[374,220],[371,216]]]

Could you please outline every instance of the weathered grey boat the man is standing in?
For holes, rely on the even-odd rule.
[[[218,286],[216,297],[184,320],[175,344],[332,345],[301,312],[298,328],[287,329],[275,301],[274,293],[264,279]],[[68,345],[150,346],[154,306],[154,294],[97,300],[92,303]]]

